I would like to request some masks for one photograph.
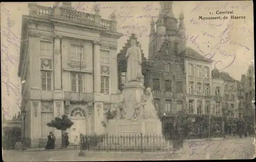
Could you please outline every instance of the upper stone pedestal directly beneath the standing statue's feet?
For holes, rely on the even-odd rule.
[[[141,102],[144,86],[141,82],[128,82],[123,86],[125,119],[131,119],[134,114],[134,107]]]

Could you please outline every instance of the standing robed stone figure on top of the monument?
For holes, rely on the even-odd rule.
[[[126,82],[142,82],[141,72],[141,51],[136,46],[136,41],[131,40],[132,46],[127,49],[125,58],[127,58]]]

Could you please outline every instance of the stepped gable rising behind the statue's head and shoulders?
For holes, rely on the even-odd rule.
[[[137,42],[137,46],[140,47],[141,49],[141,44],[140,42],[137,41],[137,37],[135,34],[132,34],[128,40],[126,40],[127,42],[124,44],[123,48],[120,50],[120,52],[117,54],[117,60],[120,62],[122,60],[125,59],[125,55],[126,55],[126,52],[127,52],[127,49],[131,47],[131,40],[136,40]],[[144,57],[144,53],[143,53],[143,50],[141,49],[141,59],[142,60],[146,60],[146,58]],[[126,61],[125,61],[126,62]]]

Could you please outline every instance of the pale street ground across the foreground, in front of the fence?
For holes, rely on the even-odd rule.
[[[102,161],[102,160],[167,160],[167,159],[250,159],[255,156],[255,142],[247,139],[197,140],[184,143],[184,149],[165,152],[91,152],[79,150],[25,151],[4,150],[4,161]]]

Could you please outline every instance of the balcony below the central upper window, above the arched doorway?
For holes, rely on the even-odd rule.
[[[64,92],[64,99],[68,101],[94,101],[94,93]]]

